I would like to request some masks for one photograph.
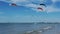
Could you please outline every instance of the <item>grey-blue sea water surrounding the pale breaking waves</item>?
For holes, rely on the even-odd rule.
[[[60,33],[60,24],[0,23],[0,34],[25,34],[25,32],[27,31],[40,30],[47,26],[52,26],[52,29],[44,31],[41,34],[59,34]]]

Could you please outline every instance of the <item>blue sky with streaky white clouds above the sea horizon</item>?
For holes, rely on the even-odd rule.
[[[10,6],[15,3],[18,6]],[[44,11],[37,7],[44,3]],[[60,0],[0,0],[0,22],[60,22]]]

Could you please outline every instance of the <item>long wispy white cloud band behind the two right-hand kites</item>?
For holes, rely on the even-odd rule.
[[[40,6],[40,5],[36,5],[36,4],[27,4],[25,5],[26,7],[30,7],[32,10],[37,11],[37,12],[44,12],[46,11],[47,13],[49,12],[60,12],[59,8],[55,8],[54,7],[54,3],[50,6],[44,7],[44,6]],[[42,7],[44,10],[38,10],[38,7]]]

